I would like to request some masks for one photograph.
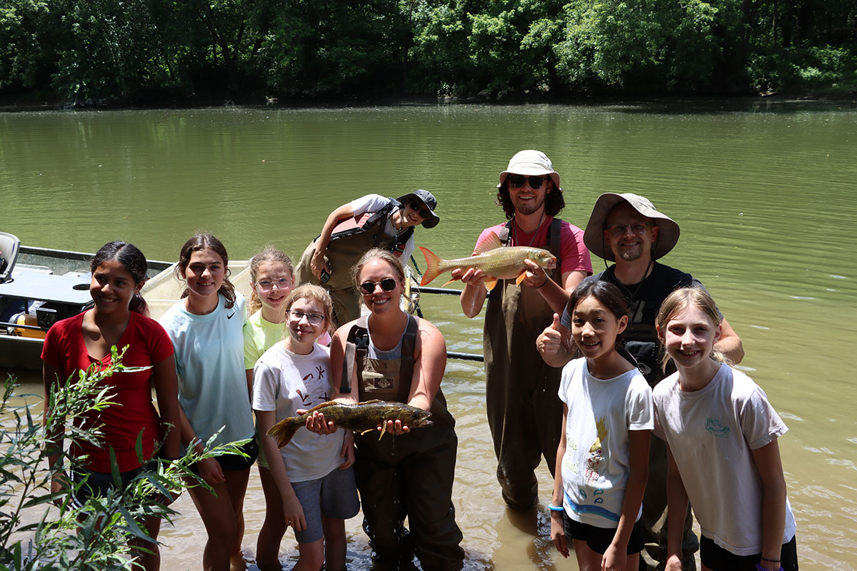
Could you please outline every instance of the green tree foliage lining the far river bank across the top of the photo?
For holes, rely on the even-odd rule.
[[[853,0],[0,2],[0,95],[68,104],[817,89],[857,53]]]

